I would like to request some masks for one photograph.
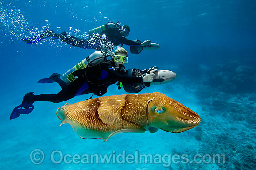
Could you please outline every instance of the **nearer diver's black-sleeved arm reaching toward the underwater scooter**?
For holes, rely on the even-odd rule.
[[[111,66],[108,67],[107,72],[109,76],[115,77],[120,82],[143,82],[143,77],[131,77],[131,76],[125,76],[118,73],[115,69],[113,69]]]

